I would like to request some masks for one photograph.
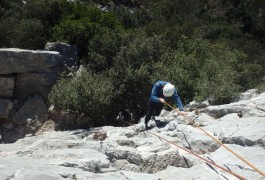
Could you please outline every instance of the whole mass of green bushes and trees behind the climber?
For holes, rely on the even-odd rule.
[[[184,104],[229,103],[240,91],[262,88],[264,6],[262,0],[1,0],[0,47],[77,45],[82,73],[62,76],[49,99],[103,123],[117,104],[143,116],[157,80],[175,84]]]

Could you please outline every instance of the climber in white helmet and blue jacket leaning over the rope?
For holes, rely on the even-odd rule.
[[[181,99],[175,89],[174,85],[165,81],[158,81],[154,84],[149,98],[148,111],[145,116],[145,129],[148,129],[148,121],[152,116],[159,116],[163,104],[166,103],[166,100],[169,97],[173,97],[176,103],[176,106],[180,110],[180,115],[186,115],[187,112],[183,110],[183,105]]]

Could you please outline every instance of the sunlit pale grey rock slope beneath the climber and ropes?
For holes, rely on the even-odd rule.
[[[237,179],[158,136],[246,179],[265,178],[189,123],[195,119],[265,172],[265,93],[191,110],[188,118],[163,111],[149,131],[143,119],[134,126],[74,131],[54,131],[47,121],[34,136],[0,144],[0,179]]]

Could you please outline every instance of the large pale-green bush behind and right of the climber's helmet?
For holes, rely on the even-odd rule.
[[[156,64],[154,79],[174,83],[184,103],[211,98],[213,104],[230,102],[240,90],[237,63],[244,54],[225,41],[212,43],[183,36],[179,49],[165,53]]]

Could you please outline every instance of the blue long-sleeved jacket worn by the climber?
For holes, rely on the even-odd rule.
[[[154,87],[152,89],[152,93],[151,93],[151,96],[150,96],[150,101],[153,101],[153,102],[156,102],[156,103],[159,103],[159,98],[163,98],[163,99],[167,99],[167,97],[165,97],[163,95],[163,86],[165,84],[167,84],[169,82],[165,82],[165,81],[158,81],[154,84]],[[176,103],[176,106],[179,108],[180,111],[183,111],[183,105],[182,105],[182,102],[181,102],[181,99],[177,93],[177,91],[175,90],[173,96],[172,96],[175,100],[175,103]]]

